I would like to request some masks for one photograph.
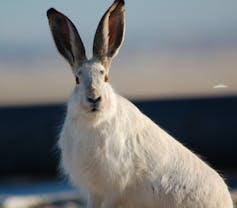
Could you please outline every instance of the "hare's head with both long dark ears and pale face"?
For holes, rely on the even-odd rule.
[[[124,38],[124,0],[115,0],[102,17],[90,59],[87,59],[83,42],[71,21],[53,8],[47,11],[47,16],[56,47],[75,75],[73,99],[80,105],[79,110],[87,114],[105,110],[111,96],[110,64]]]

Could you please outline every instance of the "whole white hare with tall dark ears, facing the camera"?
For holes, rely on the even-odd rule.
[[[112,89],[108,73],[124,38],[124,0],[102,17],[89,60],[73,23],[55,9],[47,16],[76,77],[59,139],[61,163],[88,192],[88,208],[232,208],[215,170]]]

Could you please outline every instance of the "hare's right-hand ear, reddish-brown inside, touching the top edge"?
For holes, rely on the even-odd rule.
[[[112,58],[118,53],[124,39],[124,0],[115,0],[105,12],[96,30],[93,55],[105,68],[109,68]]]

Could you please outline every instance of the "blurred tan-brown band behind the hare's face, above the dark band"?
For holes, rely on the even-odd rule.
[[[126,52],[115,59],[110,80],[136,99],[236,95],[236,57],[234,48]],[[0,105],[64,102],[73,87],[59,55],[0,62]]]

